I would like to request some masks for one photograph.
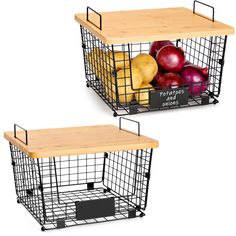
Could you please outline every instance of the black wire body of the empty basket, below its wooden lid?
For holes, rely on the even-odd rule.
[[[152,149],[31,158],[10,143],[10,152],[17,202],[42,231],[145,215]]]

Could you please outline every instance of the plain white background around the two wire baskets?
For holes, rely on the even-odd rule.
[[[216,19],[235,26],[234,1],[213,1]],[[0,224],[1,232],[41,235],[16,203],[10,153],[3,132],[14,123],[49,128],[118,124],[85,86],[79,24],[74,13],[192,7],[182,0],[1,0]],[[115,29],[114,29],[115,30]],[[220,103],[132,116],[160,141],[154,151],[144,218],[72,227],[50,235],[236,235],[235,37],[228,39]],[[7,230],[7,231],[5,231]],[[151,230],[153,232],[151,232]]]

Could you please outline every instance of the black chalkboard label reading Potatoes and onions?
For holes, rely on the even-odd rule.
[[[150,108],[165,108],[188,104],[188,88],[150,91]]]

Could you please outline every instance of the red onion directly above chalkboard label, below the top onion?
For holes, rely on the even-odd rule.
[[[179,88],[181,87],[181,84],[182,84],[181,76],[173,72],[165,73],[164,75],[160,76],[157,81],[159,90]]]

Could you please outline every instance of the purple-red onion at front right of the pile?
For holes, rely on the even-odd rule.
[[[188,86],[190,96],[199,96],[207,90],[208,76],[196,66],[187,65],[181,71],[182,82]]]

